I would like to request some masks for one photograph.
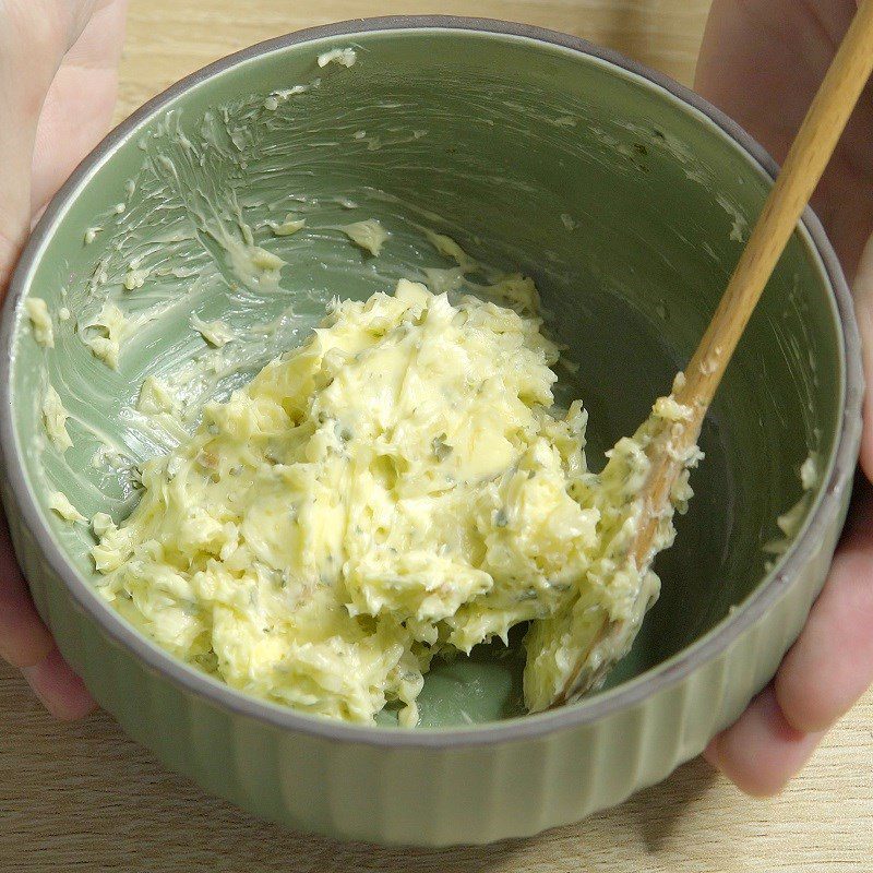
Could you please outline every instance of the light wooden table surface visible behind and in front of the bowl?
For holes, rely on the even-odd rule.
[[[118,118],[235,49],[314,24],[457,13],[579,34],[690,82],[707,0],[131,0]],[[873,870],[873,694],[778,799],[743,797],[702,761],[622,806],[530,840],[445,851],[285,833],[166,773],[104,714],[53,722],[0,666],[0,873]]]

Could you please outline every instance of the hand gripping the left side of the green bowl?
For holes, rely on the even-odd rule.
[[[106,132],[127,0],[0,0],[0,298],[35,218]],[[46,708],[94,708],[43,624],[0,514],[0,655]]]

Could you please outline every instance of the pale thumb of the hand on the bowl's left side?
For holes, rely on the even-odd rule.
[[[43,103],[76,24],[69,3],[0,3],[0,297],[31,229],[31,165]]]

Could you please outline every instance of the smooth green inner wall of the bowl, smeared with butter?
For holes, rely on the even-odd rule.
[[[321,52],[346,47],[352,67],[319,65]],[[768,187],[745,152],[668,92],[525,38],[356,34],[201,81],[79,180],[25,275],[25,294],[55,316],[55,348],[43,349],[19,304],[11,369],[17,450],[48,535],[93,581],[88,529],[51,513],[47,494],[63,491],[88,517],[127,515],[131,462],[107,449],[135,463],[178,439],[135,411],[143,379],[171,380],[192,427],[205,399],[300,343],[332,297],[445,278],[427,273],[454,263],[422,228],[536,279],[549,330],[579,364],[560,371],[560,397],[588,408],[599,467],[669,391]],[[273,235],[266,222],[289,212],[307,227]],[[337,230],[364,218],[391,231],[378,258]],[[278,276],[246,260],[249,229],[286,262]],[[83,343],[105,334],[93,323],[107,297],[128,319],[117,370]],[[211,347],[192,313],[226,320],[240,338]],[[707,420],[696,497],[657,563],[661,598],[609,685],[670,658],[762,584],[776,517],[803,493],[799,468],[812,454],[821,481],[829,464],[841,373],[832,294],[799,232]],[[47,383],[71,414],[64,455],[44,433]],[[422,722],[517,715],[521,666],[494,646],[438,667]]]

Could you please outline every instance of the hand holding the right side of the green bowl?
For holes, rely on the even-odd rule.
[[[856,0],[714,0],[696,88],[777,160],[857,9]],[[861,467],[830,574],[773,682],[706,757],[751,794],[773,794],[873,682],[873,86],[813,206],[853,285],[868,396]]]

